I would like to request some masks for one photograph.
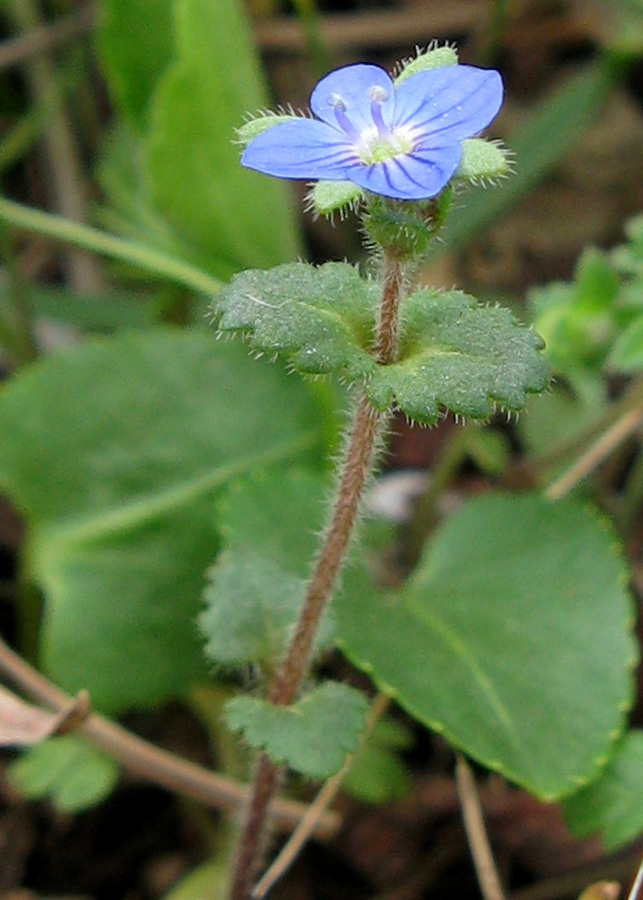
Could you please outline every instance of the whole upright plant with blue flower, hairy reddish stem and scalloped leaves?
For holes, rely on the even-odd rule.
[[[398,408],[423,424],[436,422],[445,409],[485,418],[496,407],[521,409],[526,394],[547,383],[542,342],[507,310],[480,306],[458,291],[421,287],[407,295],[409,269],[439,231],[451,182],[506,172],[498,145],[475,137],[495,117],[502,94],[498,72],[460,66],[451,48],[439,48],[420,54],[395,80],[374,65],[338,69],[311,95],[314,118],[262,115],[240,129],[247,145],[242,164],[279,178],[318,181],[318,212],[332,214],[359,201],[379,274],[362,277],[348,263],[293,263],[242,272],[213,303],[220,331],[242,334],[254,350],[282,355],[295,370],[335,373],[360,386],[334,508],[294,630],[267,667],[274,674],[264,699],[237,698],[229,709],[231,726],[260,750],[232,900],[250,897],[282,765],[313,774],[301,747],[297,753],[284,747],[283,734],[293,724],[289,711],[301,707],[301,731],[303,704],[319,716],[325,703],[334,713],[343,703],[345,726],[334,724],[342,752],[359,740],[365,710],[348,697],[352,689],[322,685],[303,698],[301,691],[389,412]],[[216,570],[213,577],[205,632],[207,617],[214,617],[212,624],[217,613]],[[292,578],[285,579],[284,591],[291,589]],[[216,651],[211,655],[216,660]],[[316,740],[311,731],[311,744]],[[315,766],[319,777],[323,761]]]

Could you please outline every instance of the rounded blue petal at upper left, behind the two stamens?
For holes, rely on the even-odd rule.
[[[310,95],[310,108],[323,122],[337,128],[339,126],[333,101],[341,98],[346,116],[357,131],[372,129],[372,100],[369,91],[374,87],[382,88],[388,96],[381,108],[384,121],[390,124],[395,105],[393,82],[384,69],[367,63],[343,66],[322,78]]]

